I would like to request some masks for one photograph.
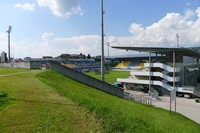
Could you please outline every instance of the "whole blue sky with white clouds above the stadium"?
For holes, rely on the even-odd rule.
[[[200,46],[200,0],[104,0],[105,56],[111,46]],[[101,54],[100,0],[1,0],[0,52],[11,57]],[[109,48],[110,56],[130,52]]]

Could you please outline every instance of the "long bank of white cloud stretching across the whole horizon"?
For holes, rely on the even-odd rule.
[[[132,23],[129,27],[130,36],[108,36],[106,42],[111,46],[141,46],[141,47],[176,47],[176,34],[180,35],[180,47],[200,45],[200,7],[194,12],[194,17],[186,14],[168,13],[165,17],[150,26]],[[15,47],[16,57],[42,57],[44,55],[58,56],[62,53],[70,54],[101,54],[99,35],[81,35],[74,37],[56,37],[54,33],[45,32],[40,42],[28,39],[11,42]],[[11,40],[12,41],[12,40]],[[7,34],[0,33],[0,51],[7,51]],[[110,49],[110,55],[126,55],[130,51]]]

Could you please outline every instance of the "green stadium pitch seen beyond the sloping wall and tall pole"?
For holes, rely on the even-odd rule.
[[[86,73],[87,75],[94,77],[96,79],[101,79],[101,74],[95,74],[94,72]],[[105,74],[105,81],[108,83],[114,83],[117,78],[127,78],[130,76],[130,71],[112,71],[109,74]]]

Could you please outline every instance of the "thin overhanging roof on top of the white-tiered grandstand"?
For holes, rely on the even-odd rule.
[[[123,49],[123,50],[132,50],[139,52],[151,52],[156,54],[169,54],[175,52],[176,54],[182,56],[189,56],[194,58],[200,58],[200,47],[191,47],[191,48],[164,48],[164,47],[120,47],[112,46],[112,48]]]

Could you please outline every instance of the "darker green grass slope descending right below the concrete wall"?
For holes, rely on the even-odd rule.
[[[181,114],[127,101],[81,84],[54,71],[37,76],[60,95],[95,115],[105,132],[199,133],[200,125]]]

